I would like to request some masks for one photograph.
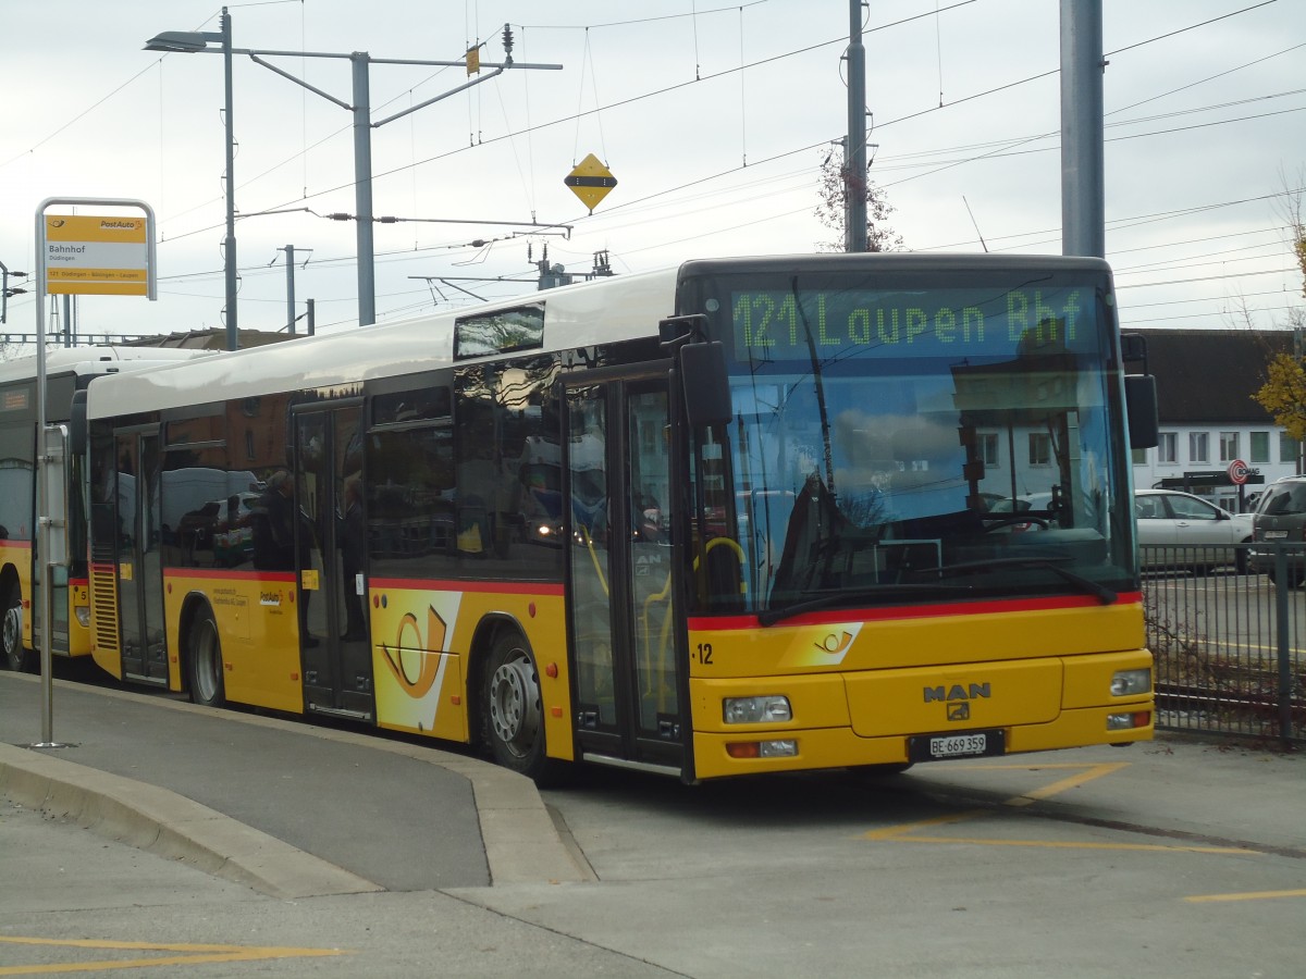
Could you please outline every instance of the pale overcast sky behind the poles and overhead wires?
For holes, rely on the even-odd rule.
[[[908,248],[1060,251],[1058,8],[866,9],[871,178]],[[398,219],[375,226],[383,322],[533,290],[545,247],[569,272],[606,252],[620,274],[835,238],[814,210],[820,163],[848,129],[846,0],[229,9],[238,48],[453,61],[485,42],[482,60],[499,63],[509,23],[515,61],[563,67],[515,68],[372,129],[374,214]],[[158,218],[158,300],[82,298],[81,334],[223,325],[222,59],[142,50],[165,30],[217,31],[219,10],[4,4],[0,262],[34,272],[50,197],[144,200]],[[1105,0],[1104,50],[1122,321],[1229,328],[1245,308],[1256,326],[1281,322],[1303,303],[1273,198],[1306,167],[1306,0]],[[346,59],[266,60],[353,98]],[[466,82],[461,68],[380,63],[368,78],[374,124]],[[285,328],[293,245],[296,313],[311,298],[319,332],[353,329],[355,225],[323,217],[357,211],[351,115],[248,56],[232,80],[239,325]],[[593,214],[563,183],[590,153],[618,180]],[[4,329],[30,333],[34,308],[12,298]]]

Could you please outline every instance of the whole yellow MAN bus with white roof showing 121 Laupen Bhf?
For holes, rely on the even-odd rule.
[[[537,779],[1144,740],[1123,368],[1105,262],[858,255],[104,379],[95,662]]]

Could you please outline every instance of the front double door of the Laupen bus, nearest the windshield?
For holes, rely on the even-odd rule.
[[[568,390],[571,671],[584,757],[679,773],[665,371]]]

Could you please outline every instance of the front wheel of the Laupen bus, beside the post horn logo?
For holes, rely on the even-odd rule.
[[[483,704],[495,761],[530,778],[542,775],[547,758],[539,674],[517,633],[502,636],[490,650]]]

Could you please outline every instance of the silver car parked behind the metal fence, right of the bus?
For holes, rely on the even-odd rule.
[[[1209,500],[1175,489],[1134,493],[1144,568],[1207,569],[1232,564],[1247,570],[1250,513],[1229,513]]]

